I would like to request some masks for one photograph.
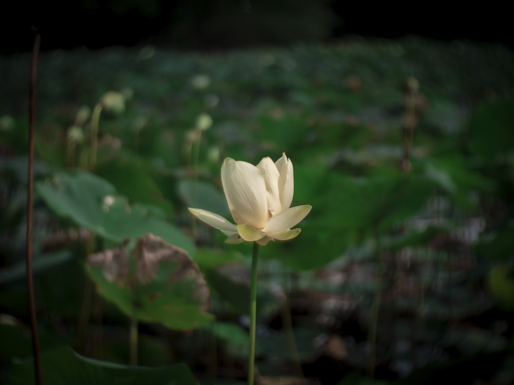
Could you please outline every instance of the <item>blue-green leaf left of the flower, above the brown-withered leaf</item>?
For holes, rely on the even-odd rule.
[[[116,195],[111,183],[89,172],[62,172],[51,180],[36,183],[35,188],[57,215],[99,237],[121,243],[126,237],[152,233],[194,255],[192,240],[164,220],[159,209],[137,203],[129,205],[125,198]]]

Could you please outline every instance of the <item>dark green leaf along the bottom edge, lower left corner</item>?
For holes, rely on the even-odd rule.
[[[12,365],[13,385],[34,383],[33,361]],[[198,382],[185,364],[164,368],[130,367],[81,356],[68,347],[56,348],[41,354],[44,383],[60,385],[90,384],[147,384],[193,385]]]

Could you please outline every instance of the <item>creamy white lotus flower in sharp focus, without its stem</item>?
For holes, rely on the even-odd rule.
[[[222,183],[233,224],[222,216],[200,208],[189,208],[199,220],[228,236],[227,243],[244,241],[266,245],[285,241],[300,234],[297,225],[312,206],[290,207],[294,191],[291,160],[285,153],[276,163],[263,158],[257,166],[226,158],[222,165]]]

